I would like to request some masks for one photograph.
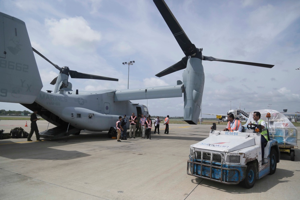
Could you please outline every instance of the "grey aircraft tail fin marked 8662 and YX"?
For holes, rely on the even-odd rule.
[[[43,84],[23,21],[0,12],[0,101],[33,103]]]

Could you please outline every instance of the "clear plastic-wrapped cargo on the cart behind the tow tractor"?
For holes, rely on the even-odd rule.
[[[297,128],[286,116],[276,110],[271,109],[255,111],[260,112],[261,119],[267,124],[271,139],[276,139],[278,141],[278,145],[285,145],[287,148],[298,148]],[[253,120],[253,112],[250,112],[249,119],[245,126],[247,126],[247,124]],[[271,114],[269,121],[266,117],[268,112]]]

